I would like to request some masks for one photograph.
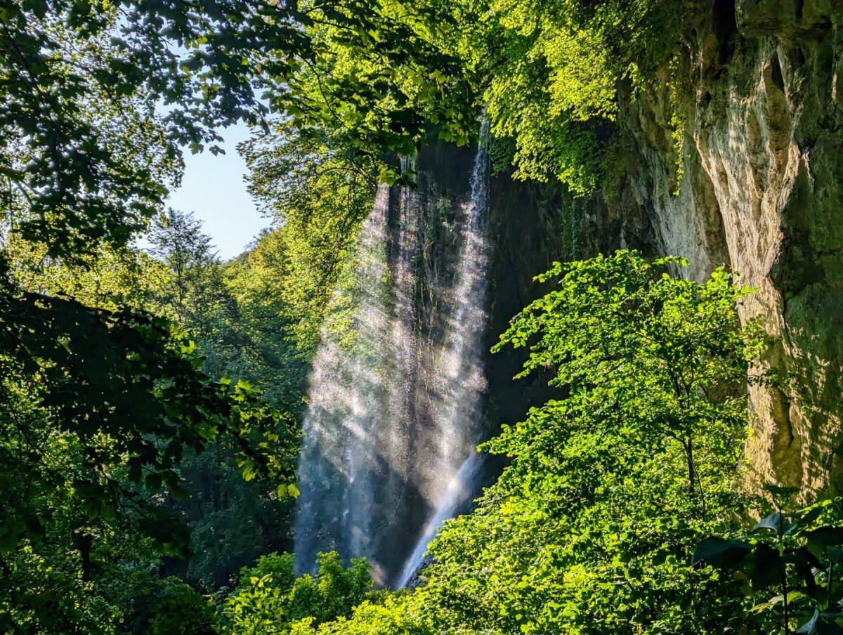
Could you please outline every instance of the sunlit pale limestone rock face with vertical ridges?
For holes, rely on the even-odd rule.
[[[628,191],[607,200],[645,209],[651,249],[688,257],[692,277],[727,264],[757,288],[741,317],[763,321],[775,339],[764,364],[790,381],[750,389],[750,478],[805,499],[839,493],[843,3],[693,4],[678,85],[622,101],[634,159]]]

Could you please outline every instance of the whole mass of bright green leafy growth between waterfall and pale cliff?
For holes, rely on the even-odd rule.
[[[678,258],[619,251],[559,264],[495,350],[560,398],[482,449],[511,464],[432,546],[439,629],[722,632],[743,600],[688,566],[696,542],[745,509],[744,384],[760,347],[738,325],[749,290],[725,271],[674,277]]]

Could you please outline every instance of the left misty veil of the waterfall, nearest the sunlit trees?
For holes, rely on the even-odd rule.
[[[389,188],[380,186],[372,213],[357,234],[357,258],[349,288],[339,288],[337,313],[352,309],[350,336],[342,320],[322,329],[309,377],[309,407],[299,458],[295,552],[299,573],[317,552],[371,557],[370,533],[377,430],[384,401],[381,368],[389,363],[389,293],[386,258]],[[347,309],[346,309],[347,312]],[[347,320],[346,316],[346,320]],[[346,327],[347,328],[347,327]]]

